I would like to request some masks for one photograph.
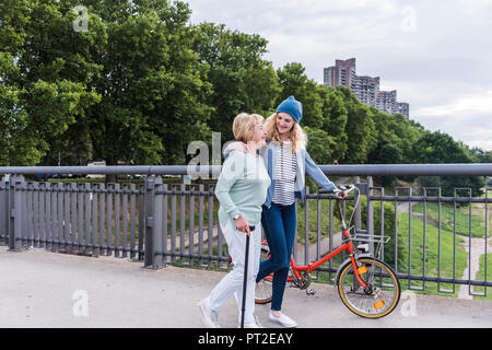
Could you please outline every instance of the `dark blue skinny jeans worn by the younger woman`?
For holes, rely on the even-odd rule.
[[[267,236],[271,256],[260,264],[256,280],[260,281],[273,272],[271,301],[271,310],[273,311],[280,311],[282,307],[296,224],[295,203],[291,206],[271,203],[270,209],[266,206],[262,207],[261,225]]]

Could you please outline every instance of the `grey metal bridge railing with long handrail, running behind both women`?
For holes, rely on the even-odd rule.
[[[487,271],[492,243],[491,189],[485,188],[484,197],[476,198],[471,189],[457,188],[453,197],[443,197],[440,188],[422,188],[415,196],[414,188],[396,187],[388,196],[385,188],[373,185],[373,177],[489,176],[492,164],[320,168],[330,177],[349,176],[349,182],[356,184],[363,206],[354,212],[353,232],[359,236],[389,236],[380,250],[377,240],[368,243],[370,249],[407,280],[408,289],[458,293],[465,288],[469,295],[487,295],[487,287],[492,285]],[[200,173],[216,176],[220,166],[194,167],[194,174]],[[11,174],[9,180],[0,182],[0,244],[11,250],[112,255],[143,259],[148,268],[166,264],[229,267],[214,184],[166,184],[161,177],[189,174],[188,166],[0,167],[0,174]],[[21,174],[141,174],[144,182],[37,182],[26,180]],[[465,197],[460,195],[464,191]],[[294,257],[298,264],[318,259],[341,243],[333,215],[335,198],[309,192],[308,187],[306,194],[306,203],[296,203],[300,243],[294,245]],[[343,210],[352,209],[355,196]],[[313,278],[331,280],[340,262],[327,262]],[[476,275],[478,269],[483,277]],[[477,292],[477,287],[483,291]]]

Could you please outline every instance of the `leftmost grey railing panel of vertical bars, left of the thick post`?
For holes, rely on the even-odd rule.
[[[11,250],[143,255],[144,185],[0,182],[0,240]]]

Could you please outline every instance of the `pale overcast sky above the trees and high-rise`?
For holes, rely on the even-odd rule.
[[[397,90],[410,118],[492,150],[492,0],[185,0],[191,23],[268,40],[274,68],[301,62],[323,83],[336,59]]]

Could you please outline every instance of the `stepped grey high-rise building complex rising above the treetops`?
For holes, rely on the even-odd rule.
[[[358,100],[367,106],[394,115],[401,113],[409,119],[410,106],[408,103],[397,102],[397,91],[380,91],[379,77],[358,75],[355,73],[355,58],[347,60],[337,59],[335,66],[324,69],[325,85],[335,88],[344,85],[352,90]]]

